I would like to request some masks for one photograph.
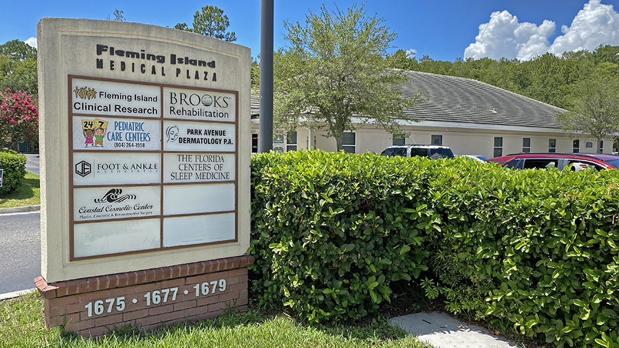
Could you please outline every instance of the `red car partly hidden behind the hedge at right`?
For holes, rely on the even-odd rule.
[[[512,153],[488,161],[508,168],[569,168],[580,171],[584,168],[616,169],[619,168],[619,156],[602,153]]]

